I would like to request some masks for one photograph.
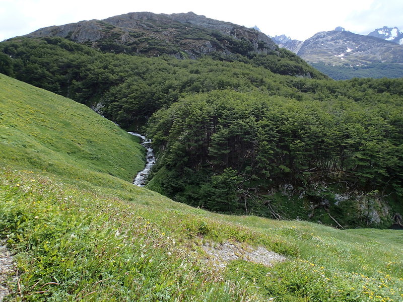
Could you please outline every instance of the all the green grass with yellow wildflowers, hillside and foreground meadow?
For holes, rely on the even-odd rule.
[[[113,123],[3,75],[0,85],[0,237],[18,267],[8,300],[403,300],[401,231],[176,203],[128,182],[143,150]],[[205,241],[262,245],[288,261],[217,270],[204,262]]]

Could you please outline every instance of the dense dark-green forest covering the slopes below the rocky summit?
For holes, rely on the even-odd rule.
[[[149,135],[148,187],[178,201],[344,226],[403,212],[402,79],[332,81],[285,50],[178,60],[16,38],[0,56],[0,72]]]

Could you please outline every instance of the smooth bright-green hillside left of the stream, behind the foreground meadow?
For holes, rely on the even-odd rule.
[[[71,179],[101,172],[127,181],[145,165],[137,138],[87,106],[3,74],[0,98],[1,161]]]

